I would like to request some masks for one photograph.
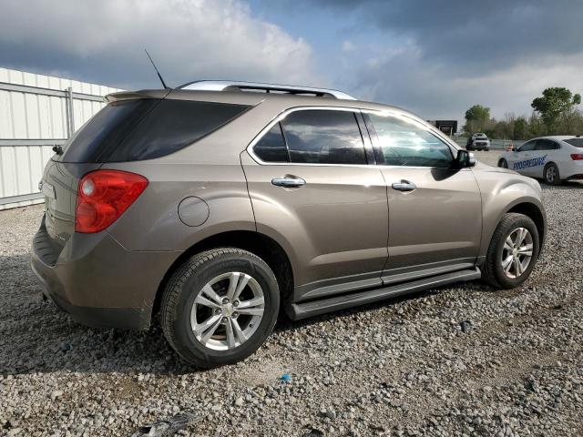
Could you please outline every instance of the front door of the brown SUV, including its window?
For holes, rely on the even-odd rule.
[[[452,168],[454,147],[399,114],[364,114],[387,183],[387,283],[473,267],[482,202],[470,168]]]

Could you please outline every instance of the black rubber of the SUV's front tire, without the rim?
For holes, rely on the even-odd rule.
[[[530,260],[530,264],[528,265],[525,272],[516,279],[508,278],[502,269],[502,252],[504,249],[504,242],[508,238],[508,236],[517,228],[526,228],[530,235],[532,236],[533,241],[533,250],[532,250],[532,259]],[[517,219],[512,220],[509,223],[506,223],[504,229],[501,229],[501,233],[499,234],[500,237],[496,241],[496,249],[494,251],[494,269],[496,274],[496,280],[498,283],[505,289],[512,289],[520,284],[522,284],[525,280],[528,279],[530,273],[535,268],[538,259],[538,253],[540,250],[540,239],[538,237],[538,229],[532,219],[529,219],[527,216],[520,216]]]

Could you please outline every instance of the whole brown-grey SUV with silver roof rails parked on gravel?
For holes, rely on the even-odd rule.
[[[196,82],[117,93],[46,165],[32,267],[90,326],[200,367],[292,320],[482,277],[527,279],[538,183],[419,117],[338,91]]]

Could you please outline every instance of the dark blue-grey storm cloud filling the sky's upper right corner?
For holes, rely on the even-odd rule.
[[[314,2],[310,2],[313,4]],[[316,0],[347,14],[357,27],[373,25],[410,37],[425,59],[470,71],[514,65],[532,56],[583,51],[583,2],[468,0]]]

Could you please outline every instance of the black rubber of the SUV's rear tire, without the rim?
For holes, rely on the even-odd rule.
[[[253,333],[251,339],[232,351],[214,351],[206,348],[196,339],[190,326],[190,310],[202,287],[209,283],[211,279],[230,271],[247,273],[257,280],[263,291],[265,310],[260,326]],[[271,269],[261,259],[244,254],[225,254],[210,259],[210,261],[199,265],[181,285],[176,320],[173,326],[175,346],[183,358],[203,367],[215,367],[244,360],[251,353],[257,351],[270,335],[277,320],[279,306],[277,281]]]

